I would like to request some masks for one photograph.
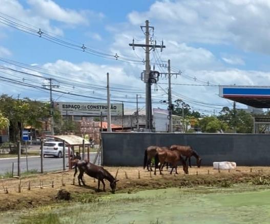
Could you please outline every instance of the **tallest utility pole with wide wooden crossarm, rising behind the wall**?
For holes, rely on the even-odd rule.
[[[141,30],[143,30],[143,28],[145,28],[145,32],[144,34],[146,35],[146,44],[134,44],[134,39],[133,39],[133,43],[129,44],[129,46],[132,46],[133,50],[135,50],[135,47],[143,47],[145,48],[146,51],[146,60],[144,61],[145,65],[146,65],[146,70],[144,71],[144,77],[143,77],[143,82],[146,83],[146,129],[152,131],[152,99],[151,99],[151,84],[152,84],[152,79],[154,77],[152,77],[151,72],[151,68],[150,68],[150,51],[151,50],[155,50],[156,48],[160,48],[161,51],[163,48],[165,48],[165,46],[163,45],[163,41],[161,45],[156,45],[156,42],[154,45],[150,45],[149,44],[149,29],[152,29],[152,31],[154,32],[154,27],[149,26],[149,21],[146,21],[146,25],[145,26],[140,26]]]

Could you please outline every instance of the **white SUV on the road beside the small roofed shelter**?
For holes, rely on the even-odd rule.
[[[65,147],[65,154],[68,156],[68,147]],[[70,154],[73,155],[73,151],[70,149]],[[40,151],[41,155],[41,151]],[[43,145],[43,156],[53,155],[55,157],[63,157],[63,142],[62,141],[46,141]]]

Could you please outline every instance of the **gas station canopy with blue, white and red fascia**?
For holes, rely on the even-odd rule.
[[[270,86],[220,86],[219,96],[255,108],[270,108]]]

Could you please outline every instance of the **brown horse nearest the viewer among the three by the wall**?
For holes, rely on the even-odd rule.
[[[183,159],[183,157],[181,156],[180,152],[177,150],[171,151],[171,150],[164,150],[161,148],[157,148],[157,154],[155,155],[155,174],[156,174],[156,168],[158,165],[158,162],[160,162],[159,165],[159,173],[161,173],[161,166],[165,162],[170,162],[170,164],[172,164],[172,170],[171,170],[171,174],[173,172],[173,169],[175,168],[175,173],[177,173],[177,162],[181,161],[182,165],[183,165],[183,171],[185,172],[185,174],[189,173],[189,166],[186,165],[185,160]]]

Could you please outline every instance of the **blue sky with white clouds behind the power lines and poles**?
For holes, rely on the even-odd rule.
[[[267,21],[270,4],[267,1],[0,0],[0,4],[0,16],[13,22],[36,31],[40,28],[61,40],[84,44],[98,52],[117,53],[129,59],[128,63],[120,62],[65,48],[0,23],[0,57],[32,65],[34,69],[50,70],[46,75],[35,71],[40,78],[0,71],[1,76],[17,82],[41,86],[46,84],[44,78],[51,77],[53,71],[57,72],[55,83],[60,85],[60,91],[103,99],[106,98],[106,73],[110,72],[114,88],[112,99],[127,101],[125,107],[134,109],[136,105],[131,102],[139,94],[140,108],[143,109],[144,84],[139,77],[144,65],[131,63],[131,60],[141,61],[144,51],[139,48],[133,51],[128,44],[133,38],[135,43],[143,43],[140,25],[149,19],[155,27],[153,39],[157,43],[163,39],[166,45],[163,52],[151,53],[152,66],[155,64],[157,70],[164,72],[166,69],[158,64],[161,60],[171,59],[174,72],[182,71],[181,76],[173,79],[174,100],[182,98],[193,109],[210,114],[223,106],[232,106],[231,101],[217,95],[215,85],[269,83],[270,24]],[[5,62],[0,62],[0,66],[33,73]],[[167,99],[167,82],[163,78],[160,83],[164,84],[153,86],[153,107],[167,108],[158,103]],[[206,82],[214,86],[196,86]],[[0,90],[14,96],[49,99],[47,91],[22,88],[14,83],[1,81]],[[62,94],[54,93],[54,99],[98,101]]]

